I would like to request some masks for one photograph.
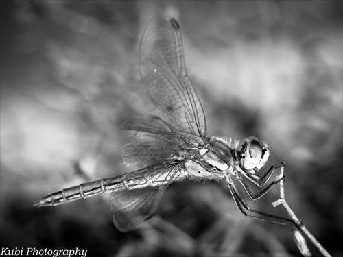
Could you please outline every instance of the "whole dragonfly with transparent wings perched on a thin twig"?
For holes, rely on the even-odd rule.
[[[110,193],[110,210],[118,230],[128,232],[150,219],[169,184],[184,180],[226,180],[241,213],[283,225],[291,219],[251,208],[241,197],[241,184],[251,199],[260,199],[282,178],[270,181],[285,164],[265,167],[270,156],[267,143],[254,136],[239,140],[207,136],[202,104],[187,76],[180,25],[169,17],[155,16],[143,32],[139,71],[160,114],[131,117],[124,130],[134,130],[121,156],[126,166],[143,169],[64,188],[34,202],[35,206],[58,204]],[[250,180],[261,188],[252,190]],[[238,184],[239,183],[239,184]]]

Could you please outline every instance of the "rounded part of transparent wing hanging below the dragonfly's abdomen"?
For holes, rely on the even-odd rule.
[[[150,219],[167,186],[127,189],[110,195],[113,223],[122,232],[133,230]]]

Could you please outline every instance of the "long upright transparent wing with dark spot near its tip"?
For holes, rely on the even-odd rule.
[[[156,106],[176,129],[206,136],[201,103],[187,77],[180,27],[154,17],[141,41],[141,77]]]

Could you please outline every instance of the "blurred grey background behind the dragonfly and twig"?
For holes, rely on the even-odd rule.
[[[1,247],[300,256],[290,228],[241,215],[224,181],[172,184],[156,217],[128,233],[114,227],[109,195],[32,206],[132,170],[121,163],[132,133],[120,124],[153,107],[139,43],[163,14],[180,23],[209,136],[265,140],[268,166],[286,162],[289,206],[342,256],[342,9],[342,1],[1,1]],[[253,204],[274,213],[273,196]]]

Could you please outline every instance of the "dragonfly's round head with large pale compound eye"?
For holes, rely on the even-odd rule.
[[[241,161],[239,166],[244,171],[255,174],[268,161],[269,155],[267,143],[250,136],[241,145]]]

